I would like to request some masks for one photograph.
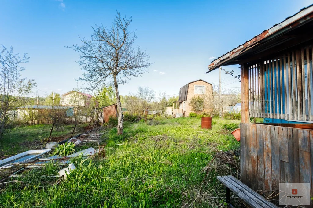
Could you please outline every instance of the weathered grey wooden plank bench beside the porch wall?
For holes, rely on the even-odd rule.
[[[264,199],[264,197],[250,189],[248,186],[244,185],[242,182],[238,181],[233,176],[217,176],[217,179],[226,186],[226,203],[228,203],[230,206],[230,190],[232,190],[251,207],[278,208],[276,205]]]

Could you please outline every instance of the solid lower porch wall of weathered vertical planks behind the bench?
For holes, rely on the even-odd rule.
[[[269,197],[279,193],[280,182],[310,183],[312,196],[313,130],[241,123],[240,134],[244,184]]]

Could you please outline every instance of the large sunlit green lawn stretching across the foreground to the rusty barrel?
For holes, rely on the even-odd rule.
[[[216,176],[236,174],[213,160],[217,152],[240,143],[218,120],[211,130],[201,129],[199,118],[158,118],[127,124],[103,136],[105,157],[74,158],[76,170],[60,182],[48,176],[60,167],[47,164],[16,178],[0,190],[7,207],[220,207]],[[115,146],[115,144],[121,144]]]

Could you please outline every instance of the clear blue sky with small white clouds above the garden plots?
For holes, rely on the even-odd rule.
[[[0,0],[0,44],[28,53],[24,76],[35,79],[40,96],[82,86],[75,62],[79,54],[65,48],[89,38],[92,26],[109,26],[116,10],[132,16],[136,45],[146,49],[153,64],[141,77],[120,86],[121,95],[147,86],[177,95],[188,82],[203,79],[218,84],[218,70],[205,74],[219,57],[258,35],[312,1],[79,1]],[[225,67],[239,74],[238,65]],[[223,85],[240,83],[222,74]],[[37,89],[34,89],[33,96]]]

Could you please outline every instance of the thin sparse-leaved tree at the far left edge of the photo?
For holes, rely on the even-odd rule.
[[[8,112],[23,105],[26,102],[25,95],[32,92],[32,87],[36,85],[34,80],[27,80],[21,75],[25,70],[22,65],[28,59],[27,53],[22,57],[13,53],[12,46],[10,49],[3,45],[0,47],[0,139],[8,120]]]

